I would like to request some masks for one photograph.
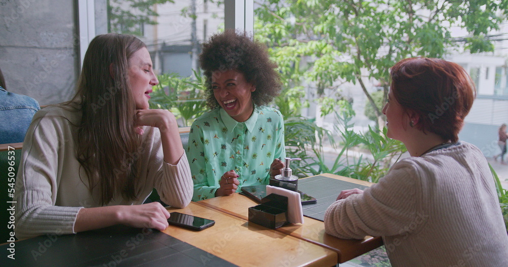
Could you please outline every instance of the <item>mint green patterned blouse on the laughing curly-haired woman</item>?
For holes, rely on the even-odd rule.
[[[242,123],[215,108],[190,127],[187,159],[194,181],[193,201],[215,197],[220,177],[234,170],[241,186],[268,184],[270,165],[285,158],[280,111],[260,106]]]

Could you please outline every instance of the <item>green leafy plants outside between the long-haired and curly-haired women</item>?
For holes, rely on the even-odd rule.
[[[150,108],[168,109],[181,120],[182,127],[192,125],[206,111],[203,99],[204,77],[196,71],[196,80],[175,73],[158,75],[159,84],[150,94]]]

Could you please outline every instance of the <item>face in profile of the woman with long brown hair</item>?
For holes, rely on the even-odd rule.
[[[136,103],[136,109],[148,109],[152,87],[158,84],[153,73],[150,53],[143,47],[129,59],[129,83]]]

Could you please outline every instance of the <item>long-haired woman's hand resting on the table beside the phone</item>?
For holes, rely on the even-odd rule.
[[[161,203],[152,202],[119,207],[118,218],[124,225],[136,228],[155,228],[159,231],[163,231],[169,225],[169,211]]]

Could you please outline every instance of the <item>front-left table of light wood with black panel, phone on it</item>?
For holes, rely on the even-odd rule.
[[[173,225],[162,233],[113,225],[75,235],[42,235],[0,245],[1,265],[225,266],[228,261],[238,266],[335,266],[337,262],[332,250],[199,203],[169,210],[213,219],[215,225],[199,232]]]

